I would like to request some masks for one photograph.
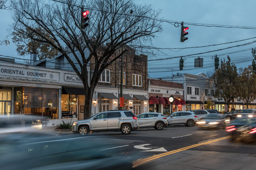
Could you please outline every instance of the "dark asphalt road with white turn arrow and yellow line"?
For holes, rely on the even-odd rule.
[[[255,170],[256,144],[231,142],[225,130],[173,126],[158,131],[139,128],[130,135],[92,132],[120,152],[138,155],[134,170]],[[139,160],[138,160],[139,159]]]

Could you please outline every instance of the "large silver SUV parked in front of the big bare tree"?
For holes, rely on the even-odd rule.
[[[73,122],[72,132],[86,135],[89,131],[121,131],[128,135],[138,127],[137,117],[131,111],[109,110],[89,119]]]

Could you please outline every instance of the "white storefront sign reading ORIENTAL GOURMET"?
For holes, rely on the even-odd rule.
[[[0,75],[57,80],[57,73],[0,65]]]

